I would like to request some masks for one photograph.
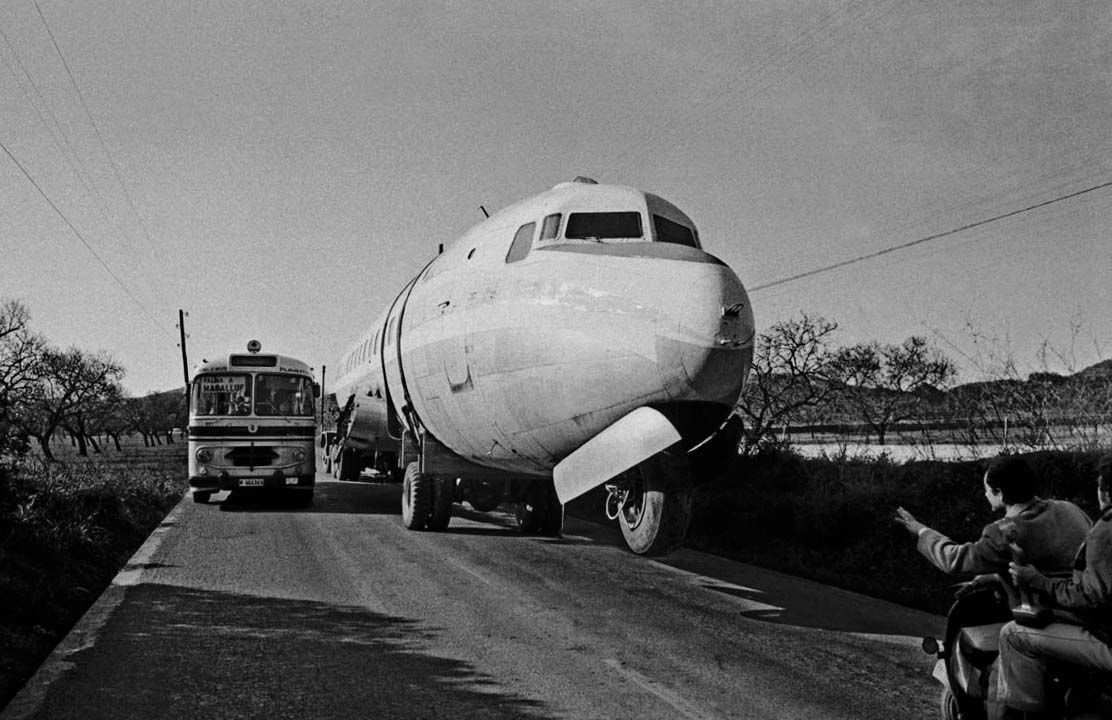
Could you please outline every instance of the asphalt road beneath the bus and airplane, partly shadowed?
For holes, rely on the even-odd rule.
[[[0,718],[933,718],[941,623],[570,517],[410,532],[398,486],[321,474],[183,501]]]

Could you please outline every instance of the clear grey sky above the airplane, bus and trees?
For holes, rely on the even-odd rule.
[[[681,207],[758,329],[925,335],[963,381],[1112,356],[1105,2],[4,0],[0,31],[0,302],[136,395],[181,386],[179,309],[190,364],[335,367],[479,206],[578,175]]]

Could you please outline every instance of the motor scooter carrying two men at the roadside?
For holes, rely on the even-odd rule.
[[[1016,555],[1017,548],[1013,548]],[[1022,562],[1022,554],[1016,558]],[[923,639],[923,650],[937,657],[934,678],[942,684],[939,710],[943,720],[985,720],[995,702],[995,664],[1000,630],[1015,620],[1044,627],[1076,622],[1069,613],[1041,605],[1017,589],[1006,573],[977,575],[962,583],[946,614],[940,643]],[[1112,718],[1112,677],[1068,664],[1050,668],[1051,717],[1063,720]]]

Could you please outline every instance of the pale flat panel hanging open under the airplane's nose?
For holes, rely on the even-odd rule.
[[[679,432],[659,411],[638,407],[556,464],[556,495],[567,503],[679,438]]]

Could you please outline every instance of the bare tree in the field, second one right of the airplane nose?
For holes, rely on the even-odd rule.
[[[940,400],[957,371],[924,337],[900,345],[862,343],[840,349],[831,363],[840,396],[885,443],[897,423],[916,417],[927,398]]]

